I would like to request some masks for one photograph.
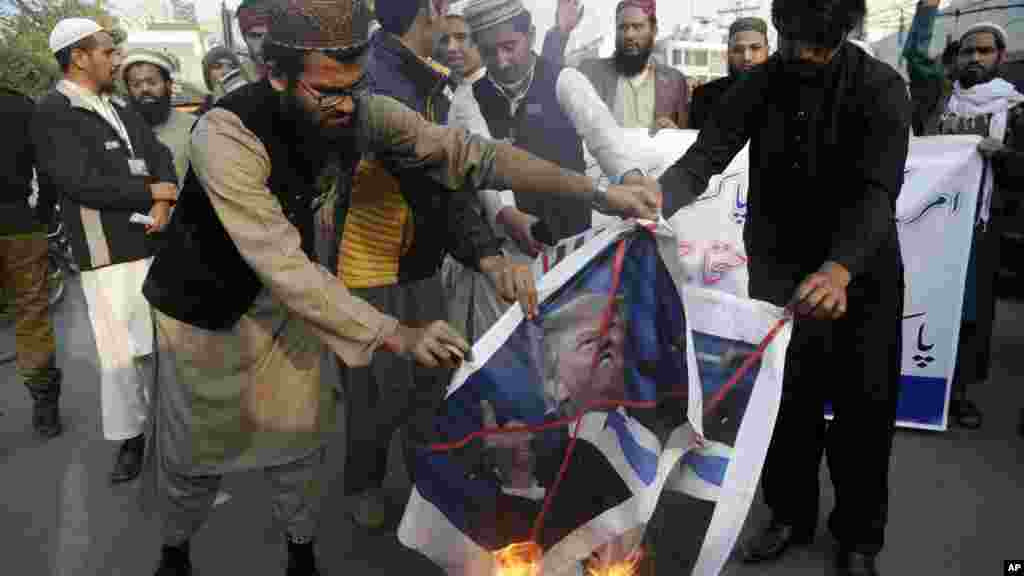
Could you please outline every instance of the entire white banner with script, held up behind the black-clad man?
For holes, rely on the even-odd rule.
[[[692,130],[671,130],[651,137],[646,130],[616,130],[614,137],[605,137],[608,146],[599,151],[604,156],[590,158],[589,175],[621,172],[632,159],[656,177],[685,154],[697,135]],[[947,427],[971,238],[985,173],[976,151],[978,140],[977,136],[910,138],[896,205],[906,283],[896,419],[904,427]],[[744,149],[712,178],[694,204],[670,219],[688,283],[748,295],[742,239],[748,170]],[[595,223],[606,220],[595,213]],[[554,250],[549,259],[558,252]]]

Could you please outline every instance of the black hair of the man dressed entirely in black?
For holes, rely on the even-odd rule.
[[[820,48],[838,47],[866,13],[864,0],[774,0],[771,6],[779,36]]]

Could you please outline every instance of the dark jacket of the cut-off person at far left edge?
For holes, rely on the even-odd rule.
[[[31,233],[40,228],[29,206],[35,164],[29,130],[35,110],[35,102],[28,96],[0,88],[0,125],[8,131],[0,142],[0,235]],[[52,204],[37,208],[41,215],[52,212]],[[40,219],[48,222],[45,216]]]

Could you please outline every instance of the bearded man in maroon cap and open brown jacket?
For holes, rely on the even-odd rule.
[[[615,7],[615,53],[580,65],[625,128],[690,127],[686,77],[651,57],[656,37],[654,0],[623,0]]]

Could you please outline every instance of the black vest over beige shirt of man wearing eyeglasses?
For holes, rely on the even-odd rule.
[[[302,236],[302,250],[314,258],[313,201],[324,151],[295,134],[281,113],[278,93],[266,81],[224,96],[215,108],[236,114],[270,155],[270,192]],[[366,106],[357,125],[366,126]],[[364,138],[357,138],[361,141]],[[188,169],[166,245],[154,259],[142,294],[160,312],[207,330],[234,326],[255,301],[262,281],[242,257],[193,168]]]

